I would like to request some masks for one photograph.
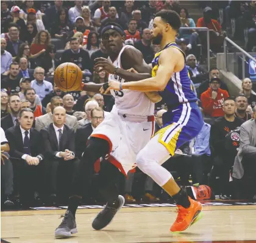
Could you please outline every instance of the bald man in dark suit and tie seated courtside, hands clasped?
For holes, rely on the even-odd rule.
[[[66,110],[62,106],[54,108],[53,123],[41,129],[45,161],[46,190],[51,202],[55,202],[56,194],[65,199],[69,186],[77,173],[80,160],[75,158],[74,129],[65,125]],[[73,171],[73,173],[72,173]],[[59,176],[61,176],[59,180]],[[67,199],[67,198],[66,198]]]

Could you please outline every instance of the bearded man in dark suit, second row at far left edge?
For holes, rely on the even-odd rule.
[[[12,126],[16,126],[18,121],[18,114],[21,109],[21,100],[18,94],[11,94],[8,101],[8,106],[10,108],[10,114],[1,118],[1,128],[6,131]]]

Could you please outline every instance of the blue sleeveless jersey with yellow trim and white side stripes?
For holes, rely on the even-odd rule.
[[[182,50],[176,43],[169,43],[162,50],[155,53],[155,57],[152,61],[152,77],[155,77],[155,75],[157,74],[161,52],[171,47],[177,48],[180,50],[180,52],[182,52]],[[182,54],[185,58],[185,53],[182,52]],[[188,74],[188,69],[186,67],[186,62],[184,63],[184,67],[180,72],[174,72],[172,74],[165,89],[158,93],[168,106],[174,106],[176,104],[184,102],[197,101],[196,95],[194,94],[191,87],[191,80]]]

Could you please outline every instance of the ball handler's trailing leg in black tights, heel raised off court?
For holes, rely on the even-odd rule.
[[[104,209],[98,213],[93,221],[94,230],[101,230],[112,221],[115,214],[123,207],[124,197],[119,195],[118,182],[124,174],[110,162],[102,163],[99,171],[98,188],[107,201]]]

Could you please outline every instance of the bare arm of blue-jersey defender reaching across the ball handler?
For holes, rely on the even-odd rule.
[[[150,91],[163,91],[171,75],[174,72],[180,72],[184,67],[184,58],[180,50],[174,48],[168,48],[160,55],[159,67],[157,75],[146,80],[132,81],[120,84],[116,81],[110,80],[108,82],[108,90],[115,89],[129,89],[133,91],[150,92]]]

